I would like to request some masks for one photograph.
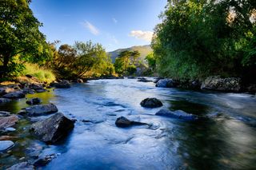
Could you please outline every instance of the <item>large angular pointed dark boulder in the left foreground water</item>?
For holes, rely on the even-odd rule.
[[[30,131],[47,144],[52,144],[67,136],[68,132],[74,128],[74,121],[65,117],[62,113],[44,121],[38,121],[31,125]]]

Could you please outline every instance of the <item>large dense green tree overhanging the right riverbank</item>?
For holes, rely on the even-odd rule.
[[[253,75],[255,9],[252,0],[169,1],[151,43],[158,71],[181,78]]]

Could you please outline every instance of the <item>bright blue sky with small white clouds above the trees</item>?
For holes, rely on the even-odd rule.
[[[99,42],[106,51],[150,44],[167,0],[34,0],[47,41]]]

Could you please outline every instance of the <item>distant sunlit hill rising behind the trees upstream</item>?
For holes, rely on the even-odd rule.
[[[111,55],[112,62],[114,63],[115,58],[118,57],[118,54],[125,50],[129,50],[129,51],[138,50],[138,52],[141,53],[141,56],[139,57],[139,59],[142,61],[145,59],[147,54],[149,54],[153,51],[153,49],[151,49],[150,45],[132,46],[127,49],[117,49],[112,52],[109,52]]]

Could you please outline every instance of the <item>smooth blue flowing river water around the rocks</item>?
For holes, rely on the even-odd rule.
[[[43,169],[255,169],[256,97],[242,93],[197,92],[155,88],[154,83],[133,79],[98,80],[28,95],[52,102],[67,117],[77,119],[74,130],[62,142],[46,145],[30,135],[30,121],[21,120],[15,146],[0,153],[0,167],[31,160],[31,148],[40,156],[59,153]],[[157,97],[163,107],[183,110],[209,120],[187,122],[158,117],[158,109],[139,103]],[[0,105],[17,113],[26,99]],[[117,117],[150,126],[118,128]],[[90,121],[83,122],[82,120]]]

